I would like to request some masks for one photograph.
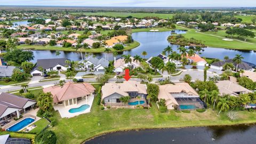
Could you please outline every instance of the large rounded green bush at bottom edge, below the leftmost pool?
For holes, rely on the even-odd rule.
[[[35,142],[42,144],[55,144],[57,137],[53,131],[43,131],[36,135]]]

